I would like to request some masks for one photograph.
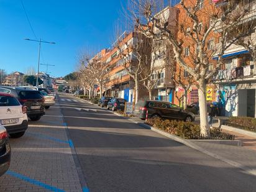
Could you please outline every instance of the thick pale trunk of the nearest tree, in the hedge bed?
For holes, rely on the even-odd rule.
[[[200,112],[200,127],[201,134],[209,134],[209,122],[208,122],[208,112],[206,104],[206,83],[204,80],[199,80],[199,112]]]

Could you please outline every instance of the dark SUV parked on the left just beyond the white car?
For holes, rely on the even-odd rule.
[[[32,121],[38,121],[45,114],[44,99],[37,90],[0,86],[0,92],[12,94],[22,106],[26,106],[27,116]]]

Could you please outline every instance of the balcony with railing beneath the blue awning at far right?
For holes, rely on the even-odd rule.
[[[256,80],[256,65],[239,66],[231,70],[220,70],[213,78],[213,81],[216,83],[248,80]]]

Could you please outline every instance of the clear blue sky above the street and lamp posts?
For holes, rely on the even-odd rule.
[[[126,0],[22,0],[37,39],[42,44],[40,63],[50,75],[65,76],[76,68],[80,50],[98,51],[111,45],[114,24],[122,17]],[[175,0],[178,1],[178,0]],[[0,69],[7,73],[37,69],[39,45],[25,17],[21,0],[0,0]],[[40,71],[46,71],[41,65]]]

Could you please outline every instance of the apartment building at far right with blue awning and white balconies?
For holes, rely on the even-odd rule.
[[[255,25],[256,1],[246,2],[247,14],[240,24]],[[216,6],[224,6],[226,3],[228,1],[216,1]],[[217,25],[216,30],[221,30],[221,26]],[[251,37],[256,42],[256,32]],[[235,44],[227,48],[223,58],[225,65],[222,66],[222,70],[216,75],[214,81],[220,90],[218,95],[225,106],[225,116],[256,117],[256,63],[245,47]],[[217,57],[213,59],[217,60]]]

